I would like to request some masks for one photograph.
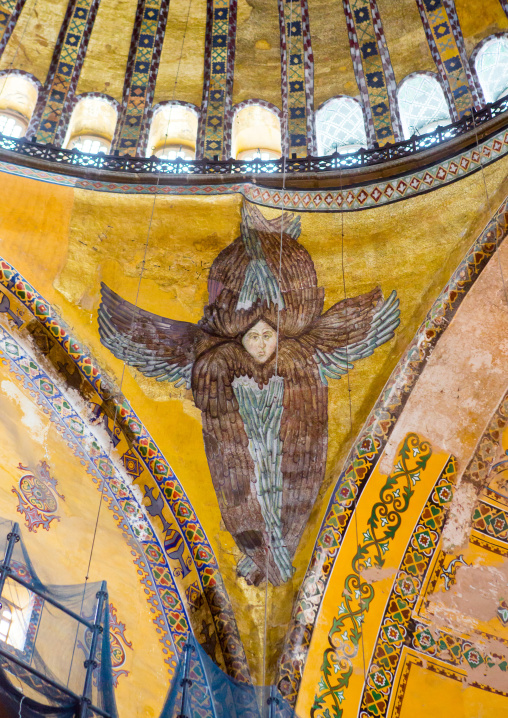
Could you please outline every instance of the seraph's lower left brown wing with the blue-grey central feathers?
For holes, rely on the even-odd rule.
[[[249,582],[259,583],[268,568],[269,580],[278,585],[281,572],[273,555],[267,566],[266,545],[267,523],[275,526],[280,513],[277,480],[276,486],[270,484],[278,477],[282,387],[263,371],[239,342],[224,342],[197,359],[192,391],[202,412],[206,457],[221,515],[245,555],[238,569]],[[264,431],[259,410],[265,418],[270,415],[273,431]],[[268,490],[266,495],[263,490]]]

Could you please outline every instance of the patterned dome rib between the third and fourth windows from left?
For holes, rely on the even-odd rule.
[[[205,69],[196,156],[227,159],[233,126],[232,91],[237,0],[207,0]]]

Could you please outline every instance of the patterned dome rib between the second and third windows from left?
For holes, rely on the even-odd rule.
[[[166,31],[169,0],[138,0],[112,151],[143,156],[148,140],[147,115],[153,100]]]

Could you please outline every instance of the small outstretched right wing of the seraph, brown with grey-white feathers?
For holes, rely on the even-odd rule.
[[[392,339],[400,324],[399,299],[395,290],[383,301],[377,287],[368,294],[334,304],[307,334],[314,345],[314,358],[323,384],[340,379],[377,347]]]

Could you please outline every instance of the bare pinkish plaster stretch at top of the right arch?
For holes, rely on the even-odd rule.
[[[499,247],[499,262],[508,277],[508,242]],[[436,345],[387,443],[381,471],[414,431],[453,454],[462,475],[506,391],[508,309],[499,262],[494,257],[485,267]]]

